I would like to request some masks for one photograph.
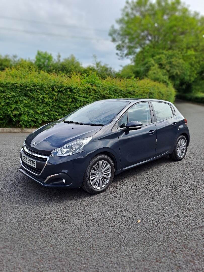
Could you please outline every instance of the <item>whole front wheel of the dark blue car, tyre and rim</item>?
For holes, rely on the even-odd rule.
[[[105,154],[96,155],[86,168],[82,188],[91,194],[102,193],[112,183],[114,174],[112,159]]]

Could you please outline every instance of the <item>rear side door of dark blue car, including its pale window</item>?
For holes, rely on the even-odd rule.
[[[156,119],[157,143],[156,156],[165,154],[174,144],[178,134],[179,120],[173,115],[170,104],[164,102],[151,102],[154,119]]]

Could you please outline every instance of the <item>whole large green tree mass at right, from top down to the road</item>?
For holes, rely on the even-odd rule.
[[[135,77],[171,81],[180,91],[203,74],[204,17],[180,0],[127,1],[116,22],[109,35],[118,55],[131,58]]]

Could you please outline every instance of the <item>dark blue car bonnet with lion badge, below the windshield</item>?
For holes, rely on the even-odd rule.
[[[89,126],[55,121],[31,133],[26,138],[26,147],[36,153],[50,155],[52,150],[64,146],[66,143],[91,137],[102,126]],[[36,142],[35,142],[36,141]],[[35,146],[33,145],[35,142]]]

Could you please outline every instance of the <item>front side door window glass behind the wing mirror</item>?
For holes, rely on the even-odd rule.
[[[128,110],[128,121],[138,121],[143,125],[151,123],[151,113],[148,102],[138,103]]]

